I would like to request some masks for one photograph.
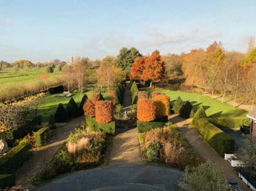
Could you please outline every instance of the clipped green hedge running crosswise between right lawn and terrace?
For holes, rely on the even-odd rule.
[[[250,119],[248,117],[220,117],[207,118],[207,120],[218,128],[240,128],[241,125],[250,126]]]

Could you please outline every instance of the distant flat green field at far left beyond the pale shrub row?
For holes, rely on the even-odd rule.
[[[0,70],[0,84],[3,83],[19,83],[28,80],[39,79],[39,74],[46,73],[46,67],[33,67],[31,69],[19,69],[18,73],[14,73],[12,68]],[[60,71],[54,70],[54,73],[48,75],[59,74]]]

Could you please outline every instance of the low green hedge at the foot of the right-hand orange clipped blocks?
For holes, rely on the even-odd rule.
[[[168,122],[168,116],[156,118],[154,121],[139,121],[137,120],[137,129],[139,133],[145,133],[156,128],[163,128],[164,124]]]

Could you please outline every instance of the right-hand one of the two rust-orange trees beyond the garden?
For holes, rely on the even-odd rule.
[[[143,70],[141,78],[143,80],[150,80],[150,87],[152,82],[159,82],[164,78],[164,62],[158,50],[152,52],[151,56],[145,61],[145,69]]]

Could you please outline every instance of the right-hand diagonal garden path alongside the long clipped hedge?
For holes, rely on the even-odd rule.
[[[238,185],[243,191],[249,190],[247,186],[238,178],[236,170],[230,165],[230,163],[227,160],[224,160],[224,158],[221,158],[221,156],[218,155],[217,152],[206,141],[204,141],[201,135],[189,125],[191,119],[184,120],[180,116],[172,115],[170,116],[170,120],[177,125],[177,127],[188,139],[188,142],[193,148],[195,148],[195,150],[204,160],[210,160],[213,163],[216,163],[218,167],[222,169],[227,179],[232,177],[238,182]]]

